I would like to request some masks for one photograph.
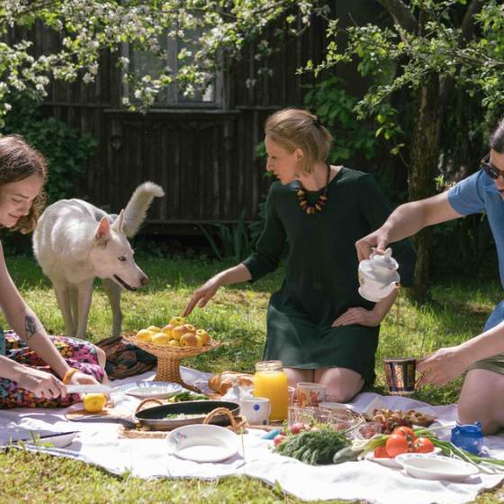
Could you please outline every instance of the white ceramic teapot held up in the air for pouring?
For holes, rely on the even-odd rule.
[[[398,268],[392,248],[387,248],[383,255],[374,252],[359,264],[359,294],[367,301],[382,301],[400,286]]]

